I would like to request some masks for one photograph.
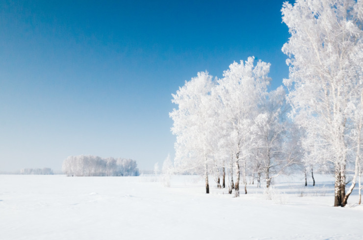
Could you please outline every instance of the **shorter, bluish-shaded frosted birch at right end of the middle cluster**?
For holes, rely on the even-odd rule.
[[[287,106],[284,88],[280,86],[266,95],[252,127],[252,144],[255,148],[258,177],[263,174],[266,187],[269,188],[272,178],[282,174],[300,159],[296,152],[298,136],[294,134],[292,124],[285,120]]]

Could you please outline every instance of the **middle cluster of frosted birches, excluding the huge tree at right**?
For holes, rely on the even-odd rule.
[[[173,95],[175,167],[203,175],[207,193],[209,175],[219,188],[227,175],[229,193],[238,197],[240,180],[247,193],[247,175],[264,177],[268,188],[301,159],[295,128],[284,117],[284,89],[267,92],[269,67],[249,57],[231,64],[222,79],[200,72]]]

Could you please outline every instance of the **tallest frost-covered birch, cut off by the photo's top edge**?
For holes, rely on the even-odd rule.
[[[282,13],[291,34],[283,47],[291,116],[306,131],[309,157],[334,171],[334,206],[345,206],[347,168],[355,166],[356,177],[361,148],[351,109],[359,109],[363,91],[363,1],[296,0]]]

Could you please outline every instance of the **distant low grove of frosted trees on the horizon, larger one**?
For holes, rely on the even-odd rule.
[[[92,155],[70,156],[63,161],[67,176],[138,176],[136,161],[124,158],[101,158]]]

